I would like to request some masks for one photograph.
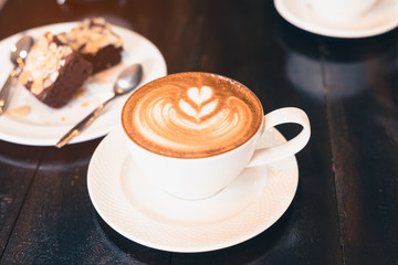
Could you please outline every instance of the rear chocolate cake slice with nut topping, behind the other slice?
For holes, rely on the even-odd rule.
[[[122,61],[123,41],[103,18],[85,19],[70,32],[61,33],[56,38],[92,63],[93,73]]]

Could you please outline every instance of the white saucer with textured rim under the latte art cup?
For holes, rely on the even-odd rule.
[[[88,194],[109,226],[149,247],[206,252],[244,242],[282,216],[297,188],[298,168],[292,156],[245,169],[228,188],[209,199],[180,200],[143,176],[125,148],[124,137],[118,128],[95,150],[88,166]],[[260,146],[284,141],[272,129]]]

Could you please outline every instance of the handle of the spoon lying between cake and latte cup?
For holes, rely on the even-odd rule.
[[[85,128],[91,125],[94,119],[100,115],[100,113],[104,109],[106,104],[114,99],[117,95],[114,95],[103,104],[101,104],[97,108],[95,108],[91,114],[88,114],[85,118],[83,118],[78,124],[76,124],[70,131],[67,131],[60,140],[56,142],[56,147],[61,148],[70,142],[73,138],[78,136]]]

